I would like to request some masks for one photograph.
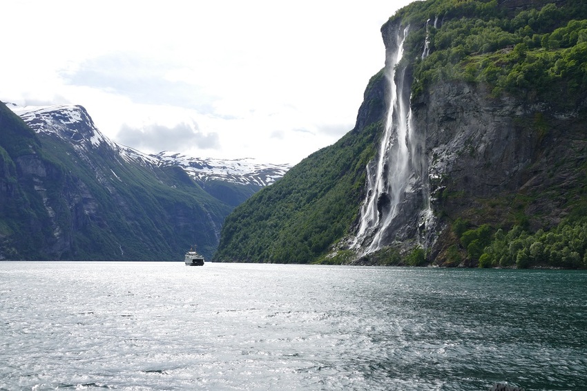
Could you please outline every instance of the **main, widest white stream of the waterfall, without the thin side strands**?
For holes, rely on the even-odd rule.
[[[403,43],[408,30],[409,26],[403,32],[398,32],[397,50],[385,61],[385,76],[389,83],[390,95],[385,133],[376,162],[367,165],[368,190],[361,207],[355,240],[355,247],[366,250],[365,254],[381,248],[387,227],[397,216],[398,205],[409,186],[410,153],[407,134],[410,86],[404,86],[405,68],[397,67],[403,56]]]

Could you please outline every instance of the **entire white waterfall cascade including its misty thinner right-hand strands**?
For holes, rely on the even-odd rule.
[[[410,108],[411,85],[406,69],[399,67],[403,57],[404,42],[410,26],[398,30],[396,50],[388,52],[385,61],[385,77],[389,86],[388,110],[385,132],[381,138],[376,158],[367,164],[367,191],[360,207],[360,221],[354,239],[354,249],[365,255],[389,245],[400,225],[410,224],[403,217],[405,204],[417,208],[418,220],[411,222],[414,230],[421,230],[432,218],[430,191],[427,191],[424,137],[412,128]],[[424,55],[428,54],[425,41]],[[423,183],[425,182],[425,183]],[[418,184],[421,197],[414,196]],[[415,207],[415,205],[414,205]],[[413,209],[413,208],[412,208]],[[419,233],[418,236],[423,236]]]

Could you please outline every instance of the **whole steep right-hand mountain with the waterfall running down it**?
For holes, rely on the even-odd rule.
[[[220,261],[587,267],[587,4],[416,1],[336,144],[237,207]]]

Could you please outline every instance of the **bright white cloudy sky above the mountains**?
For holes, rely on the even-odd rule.
[[[352,130],[412,1],[10,1],[0,101],[80,104],[145,153],[296,164]]]

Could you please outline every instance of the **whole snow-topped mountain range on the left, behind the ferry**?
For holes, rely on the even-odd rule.
[[[0,104],[0,259],[210,259],[235,205],[287,166],[146,155],[85,108]],[[19,116],[15,115],[17,113]]]

